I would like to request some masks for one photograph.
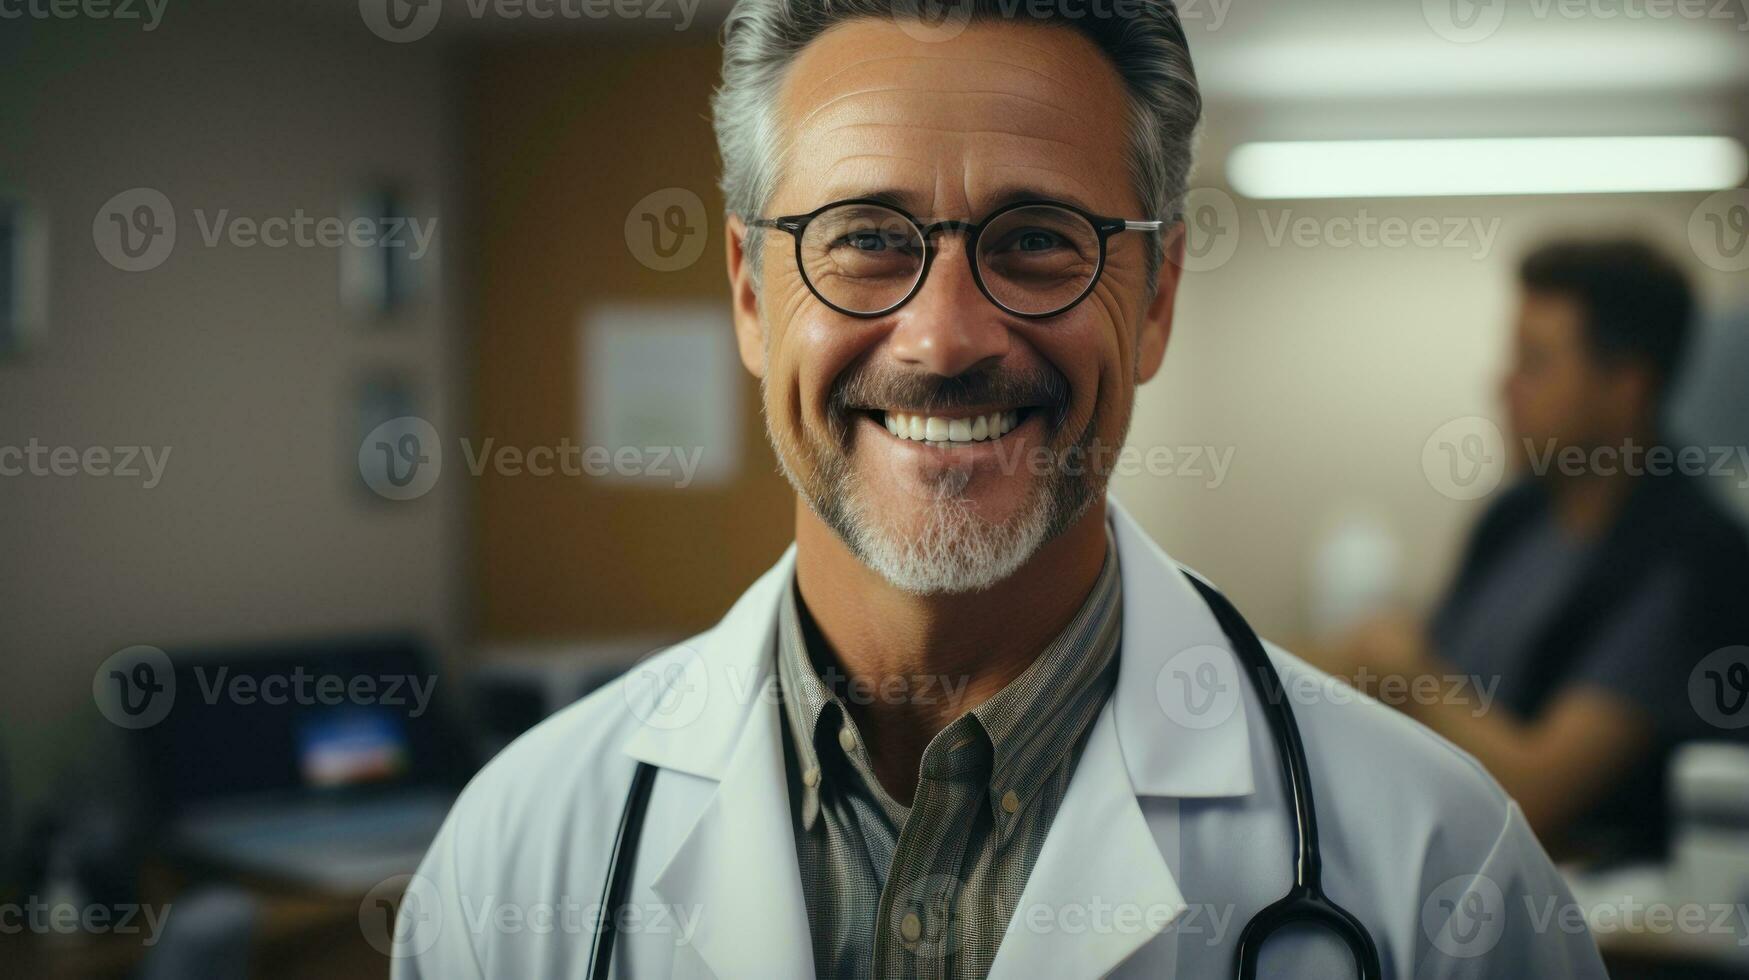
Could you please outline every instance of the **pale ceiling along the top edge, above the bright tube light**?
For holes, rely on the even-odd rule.
[[[303,9],[357,28],[364,10],[385,2],[304,0]],[[682,19],[694,37],[715,32],[729,7],[729,0],[425,2],[441,4],[430,42],[462,44],[600,32],[659,37],[675,35]],[[1097,10],[1114,0],[1074,2]],[[582,4],[596,5],[598,16],[581,16]],[[610,4],[663,16],[600,16]],[[283,5],[271,7],[283,14]],[[1749,0],[1179,0],[1179,9],[1210,119],[1223,130],[1212,133],[1216,144],[1749,135]]]

